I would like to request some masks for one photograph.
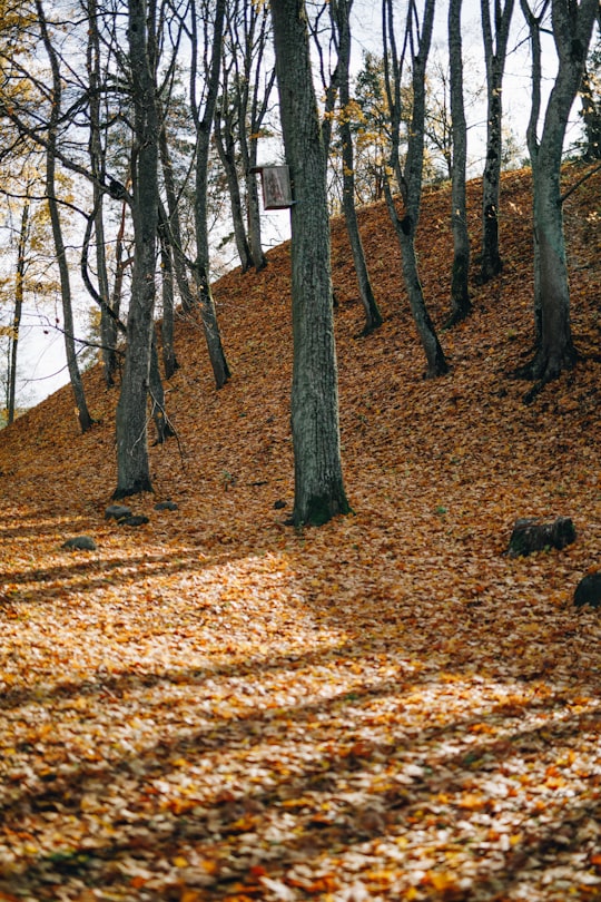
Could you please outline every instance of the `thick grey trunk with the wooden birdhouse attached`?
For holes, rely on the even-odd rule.
[[[272,0],[272,16],[286,160],[299,202],[292,208],[293,521],[321,524],[349,510],[341,462],[326,158],[304,2]]]

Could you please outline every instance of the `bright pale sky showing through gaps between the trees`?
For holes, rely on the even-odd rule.
[[[316,7],[318,9],[318,7]],[[100,10],[99,14],[105,18],[110,18],[117,14],[117,9],[110,12],[109,10]],[[233,18],[238,14],[233,10]],[[359,92],[363,85],[363,98],[361,116],[376,117],[381,115],[382,110],[377,112],[374,104],[370,111],[370,99],[367,97],[368,86],[368,69],[370,65],[374,65],[375,60],[382,57],[382,36],[381,36],[381,12],[373,4],[357,4],[351,9],[351,17],[353,21],[353,43],[351,57],[351,71],[354,73],[354,82],[356,84]],[[57,22],[59,26],[60,43],[63,45],[61,52],[81,53],[81,62],[83,62],[85,50],[81,41],[77,37],[78,21],[80,13],[76,8],[66,4],[58,14]],[[511,38],[508,49],[508,65],[503,79],[503,168],[518,167],[528,159],[525,147],[525,130],[524,124],[524,109],[530,105],[531,84],[529,75],[529,53],[528,40],[525,35],[525,22],[521,16],[513,16],[511,21]],[[446,10],[443,4],[439,4],[435,12],[434,22],[434,52],[433,59],[428,69],[428,126],[426,129],[427,155],[430,165],[426,173],[426,182],[439,180],[449,177],[449,167],[451,161],[452,135],[451,135],[451,118],[450,118],[450,86],[449,86],[449,59],[447,59],[447,36],[446,36]],[[486,121],[486,86],[485,86],[485,62],[482,48],[482,29],[480,10],[476,11],[473,4],[469,4],[463,10],[462,32],[464,36],[464,47],[466,47],[466,61],[470,68],[470,85],[466,96],[466,116],[469,127],[469,157],[467,157],[467,173],[471,177],[477,176],[482,170],[485,159],[485,121]],[[326,36],[327,38],[327,36]],[[326,38],[322,31],[321,41],[326,43]],[[265,39],[265,36],[263,37]],[[544,52],[543,52],[543,79],[542,89],[543,94],[548,94],[550,84],[556,65],[555,50],[550,37],[543,33]],[[259,41],[260,42],[260,41]],[[229,43],[228,52],[234,53],[234,45]],[[240,50],[240,48],[238,48]],[[9,55],[13,52],[12,45],[8,43],[6,52]],[[26,48],[26,55],[27,55]],[[242,50],[240,50],[242,52]],[[256,50],[254,51],[256,52]],[[322,51],[323,52],[323,51]],[[109,51],[107,50],[107,55]],[[43,69],[43,61],[39,59],[39,53],[36,56],[36,66]],[[185,56],[185,55],[183,55]],[[370,63],[371,60],[371,63]],[[322,60],[323,61],[323,60]],[[334,58],[335,63],[335,58]],[[334,65],[332,61],[329,65]],[[106,63],[108,66],[108,62]],[[180,67],[180,79],[185,76],[185,65],[178,62]],[[231,65],[231,60],[228,66]],[[265,71],[265,86],[270,84],[269,79],[269,65],[264,63]],[[273,66],[273,58],[270,58]],[[591,75],[591,96],[598,97],[599,94],[599,50],[593,50],[590,60],[590,75]],[[359,71],[362,70],[362,71]],[[227,66],[224,65],[224,73],[227,71]],[[382,73],[381,73],[382,75]],[[224,76],[225,77],[225,76]],[[372,73],[372,78],[373,78]],[[78,76],[81,78],[81,76]],[[224,82],[225,85],[225,82]],[[373,86],[372,86],[373,87]],[[178,86],[180,91],[183,84]],[[382,86],[381,86],[382,88]],[[260,133],[260,138],[257,143],[257,159],[258,163],[277,163],[283,161],[283,144],[280,136],[280,126],[277,117],[277,98],[270,95],[272,107],[267,112],[267,122]],[[121,102],[121,101],[117,101]],[[181,104],[183,98],[179,94],[177,102]],[[588,101],[590,105],[590,101]],[[598,102],[598,99],[594,100]],[[358,114],[358,108],[356,112]],[[574,110],[575,112],[575,110]],[[230,128],[229,121],[228,128]],[[372,126],[377,127],[375,121]],[[71,126],[71,131],[75,122]],[[89,127],[89,126],[87,126]],[[358,127],[358,121],[355,124]],[[363,122],[365,129],[365,122]],[[574,150],[582,146],[582,116],[578,114],[571,122],[568,135],[566,149]],[[83,127],[83,129],[86,126]],[[226,129],[227,130],[227,129]],[[114,131],[115,136],[115,131]],[[82,134],[82,140],[85,135]],[[116,146],[112,148],[112,156],[119,161],[116,164],[118,175],[126,178],[124,167],[127,167],[124,149],[119,148],[118,141],[124,140],[124,136],[115,138]],[[180,137],[178,138],[178,140]],[[10,144],[10,140],[8,141]],[[363,160],[357,161],[357,166],[363,166],[367,169],[367,178],[365,179],[361,192],[357,193],[357,202],[365,203],[377,195],[375,187],[377,176],[377,156],[382,158],[382,146],[377,141],[372,147],[372,155],[367,153],[367,144],[365,143],[365,157]],[[211,145],[211,154],[214,158],[210,163],[209,170],[209,205],[210,205],[210,263],[213,277],[221,275],[231,265],[236,265],[238,257],[235,249],[234,231],[231,228],[231,216],[229,213],[229,199],[226,187],[226,176],[223,166],[219,165],[217,149],[215,144]],[[27,153],[30,153],[29,148]],[[183,151],[184,153],[184,151]],[[380,160],[382,163],[382,159]],[[184,166],[180,161],[180,166]],[[245,205],[244,195],[246,193],[244,179],[244,157],[236,160],[237,178],[240,182],[242,203]],[[339,208],[341,193],[339,193],[339,175],[337,174],[337,166],[335,158],[332,161],[331,170],[331,209],[333,213]],[[21,312],[21,320],[19,326],[19,354],[17,361],[16,373],[16,391],[17,391],[17,406],[24,409],[28,404],[35,403],[47,394],[51,393],[60,384],[69,379],[68,367],[66,365],[65,356],[65,340],[62,335],[63,316],[62,304],[60,297],[60,285],[56,272],[56,262],[52,262],[52,255],[46,254],[46,251],[51,247],[52,241],[48,241],[49,225],[47,214],[45,213],[43,200],[43,171],[41,161],[35,164],[36,176],[31,173],[26,176],[26,183],[30,178],[37,178],[38,185],[28,190],[33,192],[38,196],[37,203],[33,204],[31,209],[31,223],[28,225],[30,229],[30,251],[28,254],[27,266],[29,272],[27,281],[23,284],[23,308]],[[12,178],[13,173],[10,166],[6,167],[4,180]],[[69,175],[69,184],[65,186],[65,197],[69,202],[72,199],[73,194],[80,194],[88,190],[87,180],[81,180],[73,174]],[[368,182],[372,184],[370,185]],[[11,370],[11,330],[13,320],[13,296],[14,296],[14,268],[18,258],[18,235],[20,231],[20,218],[22,216],[22,197],[17,196],[10,198],[6,195],[7,206],[6,215],[2,227],[2,258],[3,258],[3,302],[0,305],[0,315],[2,321],[2,355],[3,366],[1,373],[2,392],[8,400],[10,370]],[[90,199],[90,204],[92,200]],[[89,213],[89,210],[88,210]],[[91,301],[85,286],[79,277],[79,255],[81,233],[83,229],[83,220],[86,210],[73,210],[69,206],[62,208],[62,215],[66,219],[66,228],[68,232],[69,258],[71,266],[72,287],[72,303],[76,329],[75,333],[77,339],[93,340],[97,339],[98,331],[97,320],[98,310],[95,310],[95,303]],[[289,235],[289,217],[286,212],[282,210],[263,210],[263,234],[265,246],[272,246],[274,243],[284,239]],[[114,238],[109,239],[109,244]],[[43,275],[43,278],[42,278]],[[126,275],[127,277],[127,275]],[[91,305],[91,306],[90,306]],[[90,322],[91,321],[91,322]],[[91,332],[90,332],[91,330]],[[87,365],[95,357],[93,349],[87,349],[86,345],[77,345],[78,353],[81,357],[82,364]],[[7,403],[8,406],[8,403]]]

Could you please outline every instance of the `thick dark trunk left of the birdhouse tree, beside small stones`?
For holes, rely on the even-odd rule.
[[[154,2],[147,9],[145,0],[129,0],[128,12],[136,143],[132,169],[134,272],[124,378],[117,404],[116,499],[152,491],[148,460],[147,398],[159,204],[159,124],[152,69]]]

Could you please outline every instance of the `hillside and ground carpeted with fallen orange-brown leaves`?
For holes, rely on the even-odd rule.
[[[479,205],[473,183],[474,236]],[[449,206],[426,194],[418,242],[439,327]],[[573,605],[601,565],[601,173],[565,210],[580,360],[524,404],[530,208],[529,173],[505,175],[504,272],[441,331],[435,381],[385,208],[361,212],[385,315],[367,339],[333,224],[352,516],[285,526],[287,245],[215,286],[221,391],[179,322],[178,439],[129,502],[146,526],[105,519],[117,390],[97,370],[88,434],[69,389],[0,434],[0,900],[601,899],[600,610]],[[571,517],[575,542],[508,557],[530,516]],[[79,535],[97,550],[61,548]]]

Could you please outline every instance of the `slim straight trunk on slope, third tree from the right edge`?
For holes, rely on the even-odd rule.
[[[451,315],[446,325],[453,326],[472,312],[470,301],[470,235],[465,200],[465,167],[467,128],[463,104],[463,56],[461,40],[462,0],[449,3],[449,60],[451,80],[451,119],[453,130],[453,165],[451,187],[451,224],[453,229],[453,268],[451,275]]]

